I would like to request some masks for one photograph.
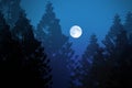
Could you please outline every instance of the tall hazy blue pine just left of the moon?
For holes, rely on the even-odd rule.
[[[67,59],[70,59],[68,56],[70,51],[68,44],[66,44],[68,37],[62,33],[59,20],[56,19],[53,9],[52,3],[47,2],[45,14],[37,25],[36,37],[42,42],[42,46],[45,46],[47,57],[51,58],[51,65],[53,67],[53,87],[67,88],[67,86],[64,87],[64,85],[67,85],[69,81]],[[67,51],[69,51],[69,53]]]

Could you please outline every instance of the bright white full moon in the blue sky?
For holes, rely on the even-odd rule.
[[[72,36],[72,37],[78,38],[78,37],[80,37],[81,34],[82,34],[82,30],[81,30],[80,26],[74,25],[74,26],[70,28],[69,33],[70,33],[70,36]]]

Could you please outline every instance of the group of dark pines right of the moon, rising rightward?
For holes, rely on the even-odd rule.
[[[128,12],[125,22],[116,14],[113,24],[98,44],[95,34],[79,61],[80,66],[72,76],[70,88],[131,88],[132,80],[132,13]]]

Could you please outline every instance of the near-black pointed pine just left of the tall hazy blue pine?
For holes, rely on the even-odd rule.
[[[51,88],[52,76],[50,59],[46,57],[41,43],[33,35],[33,29],[25,13],[21,13],[12,30],[13,40],[21,44],[24,55],[20,76],[22,87]],[[30,84],[30,82],[31,84]]]

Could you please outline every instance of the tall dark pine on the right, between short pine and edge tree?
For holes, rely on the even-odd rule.
[[[130,85],[128,79],[125,79],[125,77],[129,78],[125,76],[128,74],[125,69],[129,68],[127,62],[131,59],[131,54],[129,51],[131,46],[129,45],[127,32],[121,24],[119,15],[116,15],[113,25],[111,26],[109,33],[106,35],[103,44],[106,46],[107,73],[102,72],[106,74],[106,78],[103,78],[105,82],[100,82],[101,87],[99,88],[127,87],[127,84]],[[128,52],[128,54],[125,54],[125,52]],[[131,70],[129,70],[129,73],[131,73]],[[124,76],[124,78],[122,78],[122,76]]]

